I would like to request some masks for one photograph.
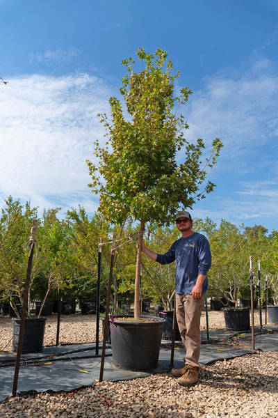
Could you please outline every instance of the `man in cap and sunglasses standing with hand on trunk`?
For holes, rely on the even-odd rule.
[[[176,314],[186,357],[181,369],[172,369],[177,382],[190,386],[197,382],[201,350],[200,320],[208,288],[211,249],[206,237],[192,230],[193,221],[182,210],[175,218],[181,238],[165,254],[156,254],[142,243],[142,252],[161,264],[176,261]]]

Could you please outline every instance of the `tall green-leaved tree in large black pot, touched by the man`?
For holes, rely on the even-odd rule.
[[[148,54],[144,49],[138,49],[137,56],[142,65],[139,72],[134,70],[132,58],[122,61],[127,74],[122,78],[120,93],[126,109],[122,110],[120,100],[110,98],[111,121],[105,114],[100,115],[101,123],[106,127],[107,146],[101,146],[99,141],[95,143],[98,161],[97,164],[88,161],[88,167],[92,178],[89,187],[99,194],[99,212],[104,219],[118,225],[126,219],[139,224],[134,318],[140,330],[140,268],[145,225],[147,222],[170,224],[179,208],[192,208],[195,201],[212,192],[214,185],[209,181],[204,192],[199,192],[199,186],[206,178],[205,167],[215,164],[222,144],[215,139],[211,159],[205,164],[200,161],[204,142],[197,139],[195,144],[189,144],[184,139],[183,132],[188,124],[183,115],[177,113],[186,104],[191,91],[187,87],[181,88],[175,96],[174,82],[179,73],[172,75],[172,62],[167,60],[166,52],[157,49],[154,54]],[[178,158],[182,160],[180,164]],[[120,350],[124,357],[130,359],[126,364],[113,348],[113,338],[121,333],[117,330],[126,327],[126,323],[123,324],[124,321],[118,321],[111,329],[113,363],[122,369],[155,367],[161,335],[156,338],[158,353],[156,349],[151,362],[148,360],[153,343],[145,343],[145,348],[131,344],[129,354],[125,353],[127,346],[122,346]],[[157,326],[155,322],[154,326]],[[146,334],[144,331],[141,340]],[[151,331],[149,334],[156,333]],[[138,342],[140,338],[136,339]],[[145,355],[145,364],[136,364],[139,355]]]

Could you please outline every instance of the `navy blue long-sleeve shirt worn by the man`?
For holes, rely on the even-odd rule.
[[[176,261],[176,293],[190,295],[198,274],[206,276],[211,268],[209,242],[201,233],[193,233],[187,238],[179,238],[165,254],[158,254],[156,261],[169,264]],[[208,288],[208,277],[203,283],[203,293]]]

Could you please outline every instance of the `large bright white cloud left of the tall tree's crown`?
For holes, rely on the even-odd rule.
[[[103,136],[97,114],[108,111],[108,97],[89,75],[9,79],[0,90],[2,196],[44,208],[56,201],[96,208],[85,160]]]

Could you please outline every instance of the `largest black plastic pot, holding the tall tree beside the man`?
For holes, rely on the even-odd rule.
[[[152,316],[141,318],[148,322],[110,318],[112,359],[118,369],[156,369],[165,320]]]

